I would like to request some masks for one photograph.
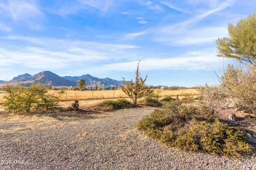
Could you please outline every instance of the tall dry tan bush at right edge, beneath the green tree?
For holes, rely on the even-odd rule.
[[[256,113],[256,67],[241,68],[229,65],[221,81],[239,109]]]

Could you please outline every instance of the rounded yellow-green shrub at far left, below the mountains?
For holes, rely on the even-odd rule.
[[[28,88],[20,85],[11,86],[7,84],[4,91],[3,106],[5,110],[13,113],[26,113],[30,111],[49,111],[58,106],[59,97],[47,94],[44,84],[32,84]]]

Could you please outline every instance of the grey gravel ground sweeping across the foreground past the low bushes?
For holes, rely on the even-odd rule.
[[[146,138],[134,125],[153,109],[124,109],[80,117],[59,127],[4,131],[0,134],[0,168],[256,169],[255,156],[235,160],[190,153]],[[0,123],[2,130],[15,126],[19,123]]]

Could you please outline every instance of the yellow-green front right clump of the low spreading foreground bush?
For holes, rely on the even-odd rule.
[[[216,120],[192,124],[189,129],[182,128],[171,146],[184,150],[202,150],[211,154],[238,158],[241,154],[252,152],[252,146],[246,142],[244,134],[227,124]]]

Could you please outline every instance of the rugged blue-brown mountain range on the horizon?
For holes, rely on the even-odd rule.
[[[103,87],[111,87],[111,86],[120,86],[124,84],[124,81],[118,81],[118,80],[113,80],[110,78],[96,78],[93,77],[90,74],[85,74],[81,76],[65,76],[65,77],[60,77],[59,75],[52,73],[50,71],[42,71],[39,72],[35,75],[30,75],[28,73],[26,74],[21,74],[18,75],[17,77],[14,77],[12,80],[8,81],[10,84],[17,84],[20,83],[22,86],[30,86],[32,83],[44,83],[46,86],[53,86],[53,87],[60,87],[60,86],[76,86],[77,81],[80,79],[83,79],[86,81],[86,84],[88,86],[95,86],[97,84],[98,86],[103,86]],[[0,84],[2,85],[6,81],[0,80]]]

